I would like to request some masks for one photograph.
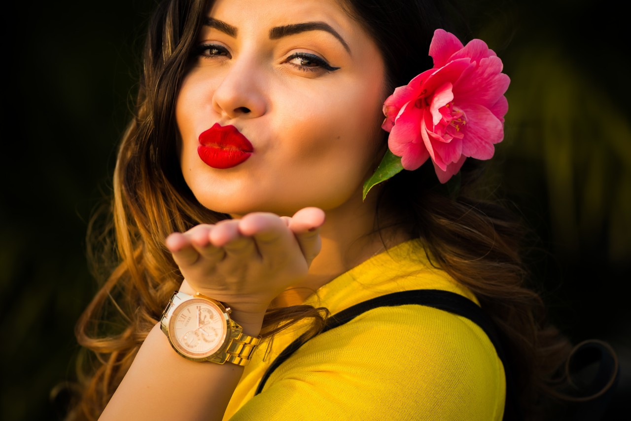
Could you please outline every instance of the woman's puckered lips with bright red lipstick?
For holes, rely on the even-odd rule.
[[[215,123],[199,135],[198,155],[204,164],[218,169],[232,168],[248,159],[254,147],[235,126]]]

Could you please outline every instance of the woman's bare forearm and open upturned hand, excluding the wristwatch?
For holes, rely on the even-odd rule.
[[[247,336],[256,337],[269,302],[307,275],[319,251],[317,228],[322,223],[324,212],[314,208],[297,212],[291,221],[250,214],[174,233],[167,238],[167,247],[188,280],[180,292],[199,291],[227,303],[230,318]],[[196,326],[203,326],[199,314]],[[181,357],[158,324],[100,419],[221,420],[243,370],[231,362]]]

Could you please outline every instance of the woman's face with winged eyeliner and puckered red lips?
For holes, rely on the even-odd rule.
[[[182,173],[201,204],[291,215],[361,202],[378,162],[385,70],[336,1],[218,0],[197,52],[176,118]]]

